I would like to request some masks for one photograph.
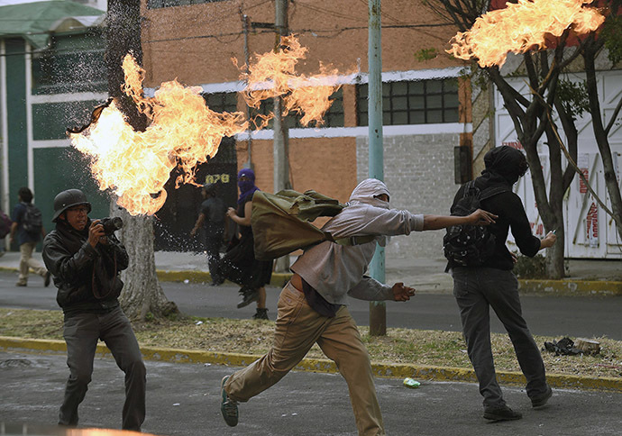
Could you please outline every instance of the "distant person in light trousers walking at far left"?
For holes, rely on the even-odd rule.
[[[37,243],[45,237],[45,229],[41,222],[41,212],[32,204],[32,191],[21,187],[17,192],[18,203],[13,209],[13,224],[9,235],[9,245],[13,244],[17,233],[17,244],[20,246],[20,276],[15,286],[28,286],[28,270],[43,277],[43,286],[50,286],[50,273],[37,259],[32,259]]]

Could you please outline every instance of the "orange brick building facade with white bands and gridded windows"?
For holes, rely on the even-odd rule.
[[[295,116],[286,120],[290,183],[342,202],[368,174],[366,4],[319,0],[288,8],[288,29],[308,49],[297,72],[309,76],[320,62],[330,64],[341,84],[324,125],[304,128]],[[145,86],[177,79],[202,86],[208,104],[229,102],[246,112],[241,69],[231,59],[242,66],[274,48],[274,2],[143,0],[142,16]],[[414,213],[449,212],[456,189],[453,149],[470,143],[471,91],[461,78],[462,64],[443,51],[454,33],[423,2],[383,2],[385,181],[391,205]],[[251,165],[266,191],[273,190],[272,140],[270,126],[235,138],[237,167]],[[442,236],[394,238],[388,256],[442,257]]]

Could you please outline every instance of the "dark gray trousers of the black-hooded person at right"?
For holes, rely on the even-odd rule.
[[[508,331],[518,365],[527,380],[527,395],[530,398],[543,395],[547,390],[544,362],[523,319],[518,280],[514,273],[497,268],[461,267],[453,268],[452,276],[453,295],[460,307],[462,333],[480,382],[484,407],[505,404],[490,347],[490,307]]]

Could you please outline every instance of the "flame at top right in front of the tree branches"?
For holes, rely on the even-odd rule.
[[[571,25],[576,33],[597,30],[605,17],[584,8],[592,0],[518,0],[481,15],[471,30],[458,32],[447,50],[459,59],[478,59],[480,67],[503,65],[508,52],[542,49],[547,34],[559,37]]]

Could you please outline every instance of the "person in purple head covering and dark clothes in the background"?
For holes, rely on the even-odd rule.
[[[272,261],[255,259],[251,227],[252,195],[259,188],[255,186],[255,173],[251,168],[241,169],[237,178],[240,189],[237,208],[230,207],[227,216],[237,224],[239,230],[220,261],[219,274],[242,286],[242,300],[238,303],[238,308],[257,301],[257,311],[252,317],[267,320],[269,318],[264,286],[270,283],[272,277]]]

